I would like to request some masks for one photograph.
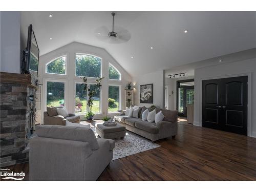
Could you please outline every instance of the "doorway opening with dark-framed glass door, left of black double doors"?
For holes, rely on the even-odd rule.
[[[178,115],[187,117],[187,108],[194,107],[194,79],[177,81],[177,110]]]

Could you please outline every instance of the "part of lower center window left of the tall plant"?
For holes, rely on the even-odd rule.
[[[82,84],[76,83],[75,114],[85,115],[87,112],[87,91],[83,90]]]

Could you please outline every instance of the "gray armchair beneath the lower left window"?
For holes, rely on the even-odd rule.
[[[69,113],[68,117],[63,117],[61,115],[49,116],[49,114],[44,112],[44,124],[45,125],[66,125],[66,120],[72,123],[80,123],[80,117],[73,113]]]

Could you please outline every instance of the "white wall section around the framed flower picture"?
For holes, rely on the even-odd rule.
[[[164,71],[156,71],[153,73],[147,73],[140,75],[139,77],[133,79],[135,84],[134,90],[134,101],[135,105],[138,106],[151,106],[155,104],[160,108],[164,107]],[[140,85],[153,83],[153,103],[140,103]]]

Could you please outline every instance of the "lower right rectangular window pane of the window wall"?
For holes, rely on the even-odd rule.
[[[119,110],[119,86],[109,86],[109,113]]]

